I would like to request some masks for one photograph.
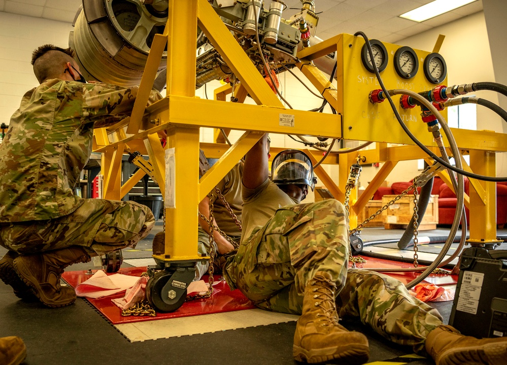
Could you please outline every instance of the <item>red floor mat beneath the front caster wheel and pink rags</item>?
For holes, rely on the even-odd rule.
[[[142,273],[146,272],[146,267],[141,268],[122,268],[116,274],[141,276]],[[93,271],[95,273],[95,271]],[[69,285],[76,287],[82,282],[88,280],[90,275],[86,275],[86,271],[69,271],[62,274],[63,280]],[[220,280],[219,276],[215,276],[215,282]],[[204,277],[203,280],[208,282],[208,276]],[[132,323],[141,321],[152,321],[155,319],[166,319],[166,318],[177,318],[177,317],[188,317],[200,314],[212,314],[220,312],[231,312],[239,311],[243,309],[256,308],[252,302],[250,302],[245,295],[239,290],[231,291],[229,286],[222,281],[214,287],[214,293],[210,298],[196,299],[193,301],[187,301],[183,305],[171,313],[157,313],[156,317],[149,316],[127,316],[121,315],[121,310],[115,306],[111,300],[115,298],[122,298],[125,296],[125,292],[116,295],[110,295],[103,298],[92,299],[86,298],[86,300],[93,306],[97,311],[102,313],[113,324],[120,323]]]

